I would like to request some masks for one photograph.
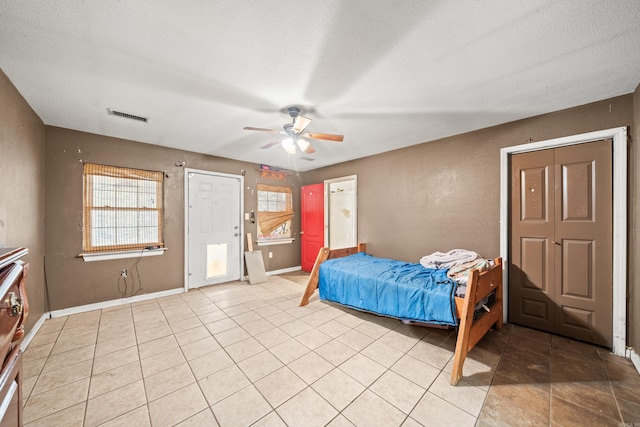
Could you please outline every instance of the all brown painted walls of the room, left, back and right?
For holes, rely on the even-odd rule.
[[[633,143],[640,140],[640,86],[630,95],[306,172],[301,174],[303,182],[294,174],[285,185],[293,186],[294,210],[299,212],[300,185],[358,175],[359,240],[375,255],[416,261],[435,250],[464,247],[492,257],[499,252],[500,148],[617,126],[631,126],[628,322],[630,342],[640,353],[640,327],[633,327],[640,319],[635,269],[640,265],[640,154]],[[254,164],[45,127],[1,71],[0,149],[0,245],[30,250],[27,329],[49,309],[118,299],[119,272],[135,261],[85,263],[77,258],[82,250],[83,161],[164,170],[169,175],[169,250],[162,257],[141,260],[147,293],[183,286],[184,169],[175,166],[177,160],[194,169],[229,174],[245,170],[246,212],[257,210],[257,183],[274,183],[260,179]],[[244,225],[245,232],[255,236],[255,225]],[[294,244],[262,248],[267,271],[300,264],[298,215],[292,225]],[[266,257],[268,251],[273,259]],[[45,255],[50,308],[45,301]]]

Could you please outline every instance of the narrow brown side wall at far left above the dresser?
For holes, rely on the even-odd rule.
[[[42,120],[0,70],[0,246],[29,249],[27,332],[45,312],[44,145]]]

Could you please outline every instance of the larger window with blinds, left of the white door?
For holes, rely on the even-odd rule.
[[[164,246],[164,173],[84,164],[84,252]]]

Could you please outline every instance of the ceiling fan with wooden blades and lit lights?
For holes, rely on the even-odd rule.
[[[286,135],[281,141],[270,142],[266,145],[263,145],[262,149],[271,148],[278,144],[282,145],[282,148],[289,153],[295,154],[296,147],[307,154],[315,153],[315,149],[311,146],[311,143],[307,140],[307,138],[311,139],[324,139],[326,141],[333,142],[342,142],[344,140],[344,136],[342,135],[333,135],[330,133],[315,133],[315,132],[305,132],[306,127],[311,123],[311,119],[305,116],[300,115],[300,107],[288,107],[286,111],[291,116],[292,122],[284,125],[284,130],[274,130],[274,129],[264,129],[264,128],[254,128],[247,126],[245,130],[256,130],[259,132],[271,132],[278,133],[280,135]]]

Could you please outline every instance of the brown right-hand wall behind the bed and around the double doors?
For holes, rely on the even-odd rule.
[[[618,126],[630,126],[637,141],[640,117],[633,107],[634,99],[640,105],[638,92],[310,171],[304,184],[358,176],[358,240],[373,255],[417,262],[434,251],[466,248],[495,257],[500,249],[500,149]],[[640,155],[631,146],[635,165]],[[634,169],[630,205],[635,224],[640,171]],[[637,234],[630,249],[635,304],[629,319],[636,321],[628,325],[637,352]]]

